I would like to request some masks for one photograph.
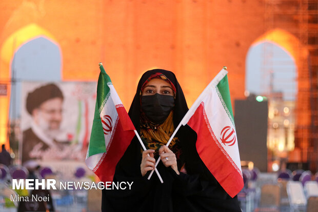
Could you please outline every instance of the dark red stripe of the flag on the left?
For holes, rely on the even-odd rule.
[[[116,110],[118,113],[118,122],[113,128],[115,131],[112,134],[109,145],[106,147],[107,152],[104,153],[96,169],[94,169],[95,174],[102,182],[113,181],[116,165],[135,136],[133,131],[135,128],[126,109],[121,106],[117,107],[116,105]]]

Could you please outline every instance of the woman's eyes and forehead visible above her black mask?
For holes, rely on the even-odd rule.
[[[170,83],[161,79],[152,79],[144,87],[142,95],[154,95],[156,93],[162,95],[173,95]]]

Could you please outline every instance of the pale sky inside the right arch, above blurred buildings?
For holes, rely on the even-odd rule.
[[[295,101],[297,70],[294,58],[281,46],[260,42],[250,47],[246,57],[246,89],[265,95],[281,93],[283,100]]]

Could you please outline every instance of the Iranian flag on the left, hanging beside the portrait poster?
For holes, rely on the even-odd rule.
[[[115,167],[132,138],[134,126],[100,63],[97,97],[86,165],[101,181],[112,181]]]

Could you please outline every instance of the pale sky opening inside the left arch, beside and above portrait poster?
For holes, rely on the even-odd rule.
[[[40,36],[23,44],[11,63],[10,119],[21,117],[22,81],[61,81],[62,58],[58,45]]]

